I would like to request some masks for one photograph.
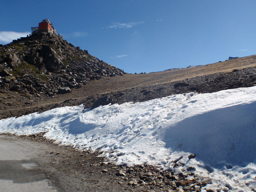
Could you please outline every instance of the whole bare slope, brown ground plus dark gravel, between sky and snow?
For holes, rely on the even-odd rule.
[[[220,64],[215,63],[215,65],[218,66]],[[243,66],[245,67],[246,65]],[[105,78],[91,81],[79,89],[72,89],[71,93],[56,95],[55,97],[42,95],[42,97],[35,97],[33,100],[21,97],[19,93],[14,91],[2,91],[1,93],[0,90],[2,96],[0,118],[21,116],[32,112],[43,112],[67,105],[84,104],[85,108],[92,106],[95,108],[108,103],[121,104],[130,101],[148,101],[172,94],[188,92],[212,93],[225,89],[256,85],[255,67],[233,69],[230,66],[231,72],[218,72],[214,74],[208,74],[209,72],[215,72],[213,69],[210,71],[202,69],[201,76],[187,78],[197,74],[199,72],[198,68],[206,67],[199,66],[176,71],[152,74],[126,74],[124,76]],[[179,76],[179,78],[176,78],[176,76]]]

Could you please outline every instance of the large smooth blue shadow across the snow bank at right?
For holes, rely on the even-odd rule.
[[[168,127],[163,141],[211,167],[246,166],[256,160],[256,102],[186,118]]]

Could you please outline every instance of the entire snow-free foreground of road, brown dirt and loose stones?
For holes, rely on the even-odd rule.
[[[118,166],[99,152],[58,146],[43,135],[0,135],[0,192],[201,191],[209,184],[191,170],[174,174],[151,165]]]

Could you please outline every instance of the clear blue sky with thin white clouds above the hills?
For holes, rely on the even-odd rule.
[[[256,54],[255,0],[1,0],[0,44],[47,18],[58,33],[128,73]]]

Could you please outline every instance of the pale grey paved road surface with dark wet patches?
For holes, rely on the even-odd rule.
[[[37,163],[42,150],[28,141],[0,135],[0,191],[56,191]]]

